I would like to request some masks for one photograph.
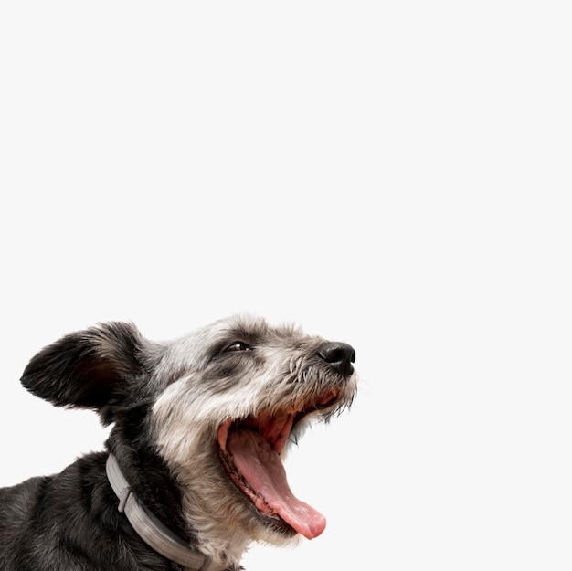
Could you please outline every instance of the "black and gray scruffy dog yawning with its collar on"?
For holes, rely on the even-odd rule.
[[[355,350],[235,315],[171,342],[100,323],[41,350],[21,382],[111,425],[105,450],[0,489],[2,571],[237,571],[252,542],[323,532],[282,460],[351,406]]]

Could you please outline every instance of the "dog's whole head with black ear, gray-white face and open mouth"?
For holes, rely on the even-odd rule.
[[[201,549],[232,558],[251,540],[322,533],[323,516],[293,495],[281,459],[313,418],[351,404],[354,360],[347,344],[258,318],[162,344],[109,323],[49,346],[23,383],[58,406],[95,408],[105,423],[137,424],[132,445],[168,466]]]

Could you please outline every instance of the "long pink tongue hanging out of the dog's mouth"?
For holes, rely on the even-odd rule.
[[[322,534],[322,513],[294,496],[279,455],[260,434],[252,430],[228,432],[227,449],[238,471],[256,492],[253,501],[262,513],[273,510],[308,539]]]

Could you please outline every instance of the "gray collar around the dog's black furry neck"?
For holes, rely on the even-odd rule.
[[[153,513],[149,513],[131,491],[129,483],[125,480],[112,454],[107,459],[105,470],[113,492],[120,499],[119,511],[125,513],[133,529],[157,553],[184,566],[189,571],[224,571],[228,568],[212,565],[208,555],[191,549],[180,537],[165,527]]]

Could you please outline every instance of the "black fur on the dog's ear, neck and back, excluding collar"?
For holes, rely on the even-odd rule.
[[[152,403],[139,358],[145,343],[127,323],[72,333],[30,361],[22,384],[57,406],[92,408],[104,424],[114,422],[107,448],[133,492],[192,542],[175,482],[145,431]],[[0,489],[2,571],[182,569],[146,545],[117,511],[106,458],[107,452],[92,453],[56,475]]]

